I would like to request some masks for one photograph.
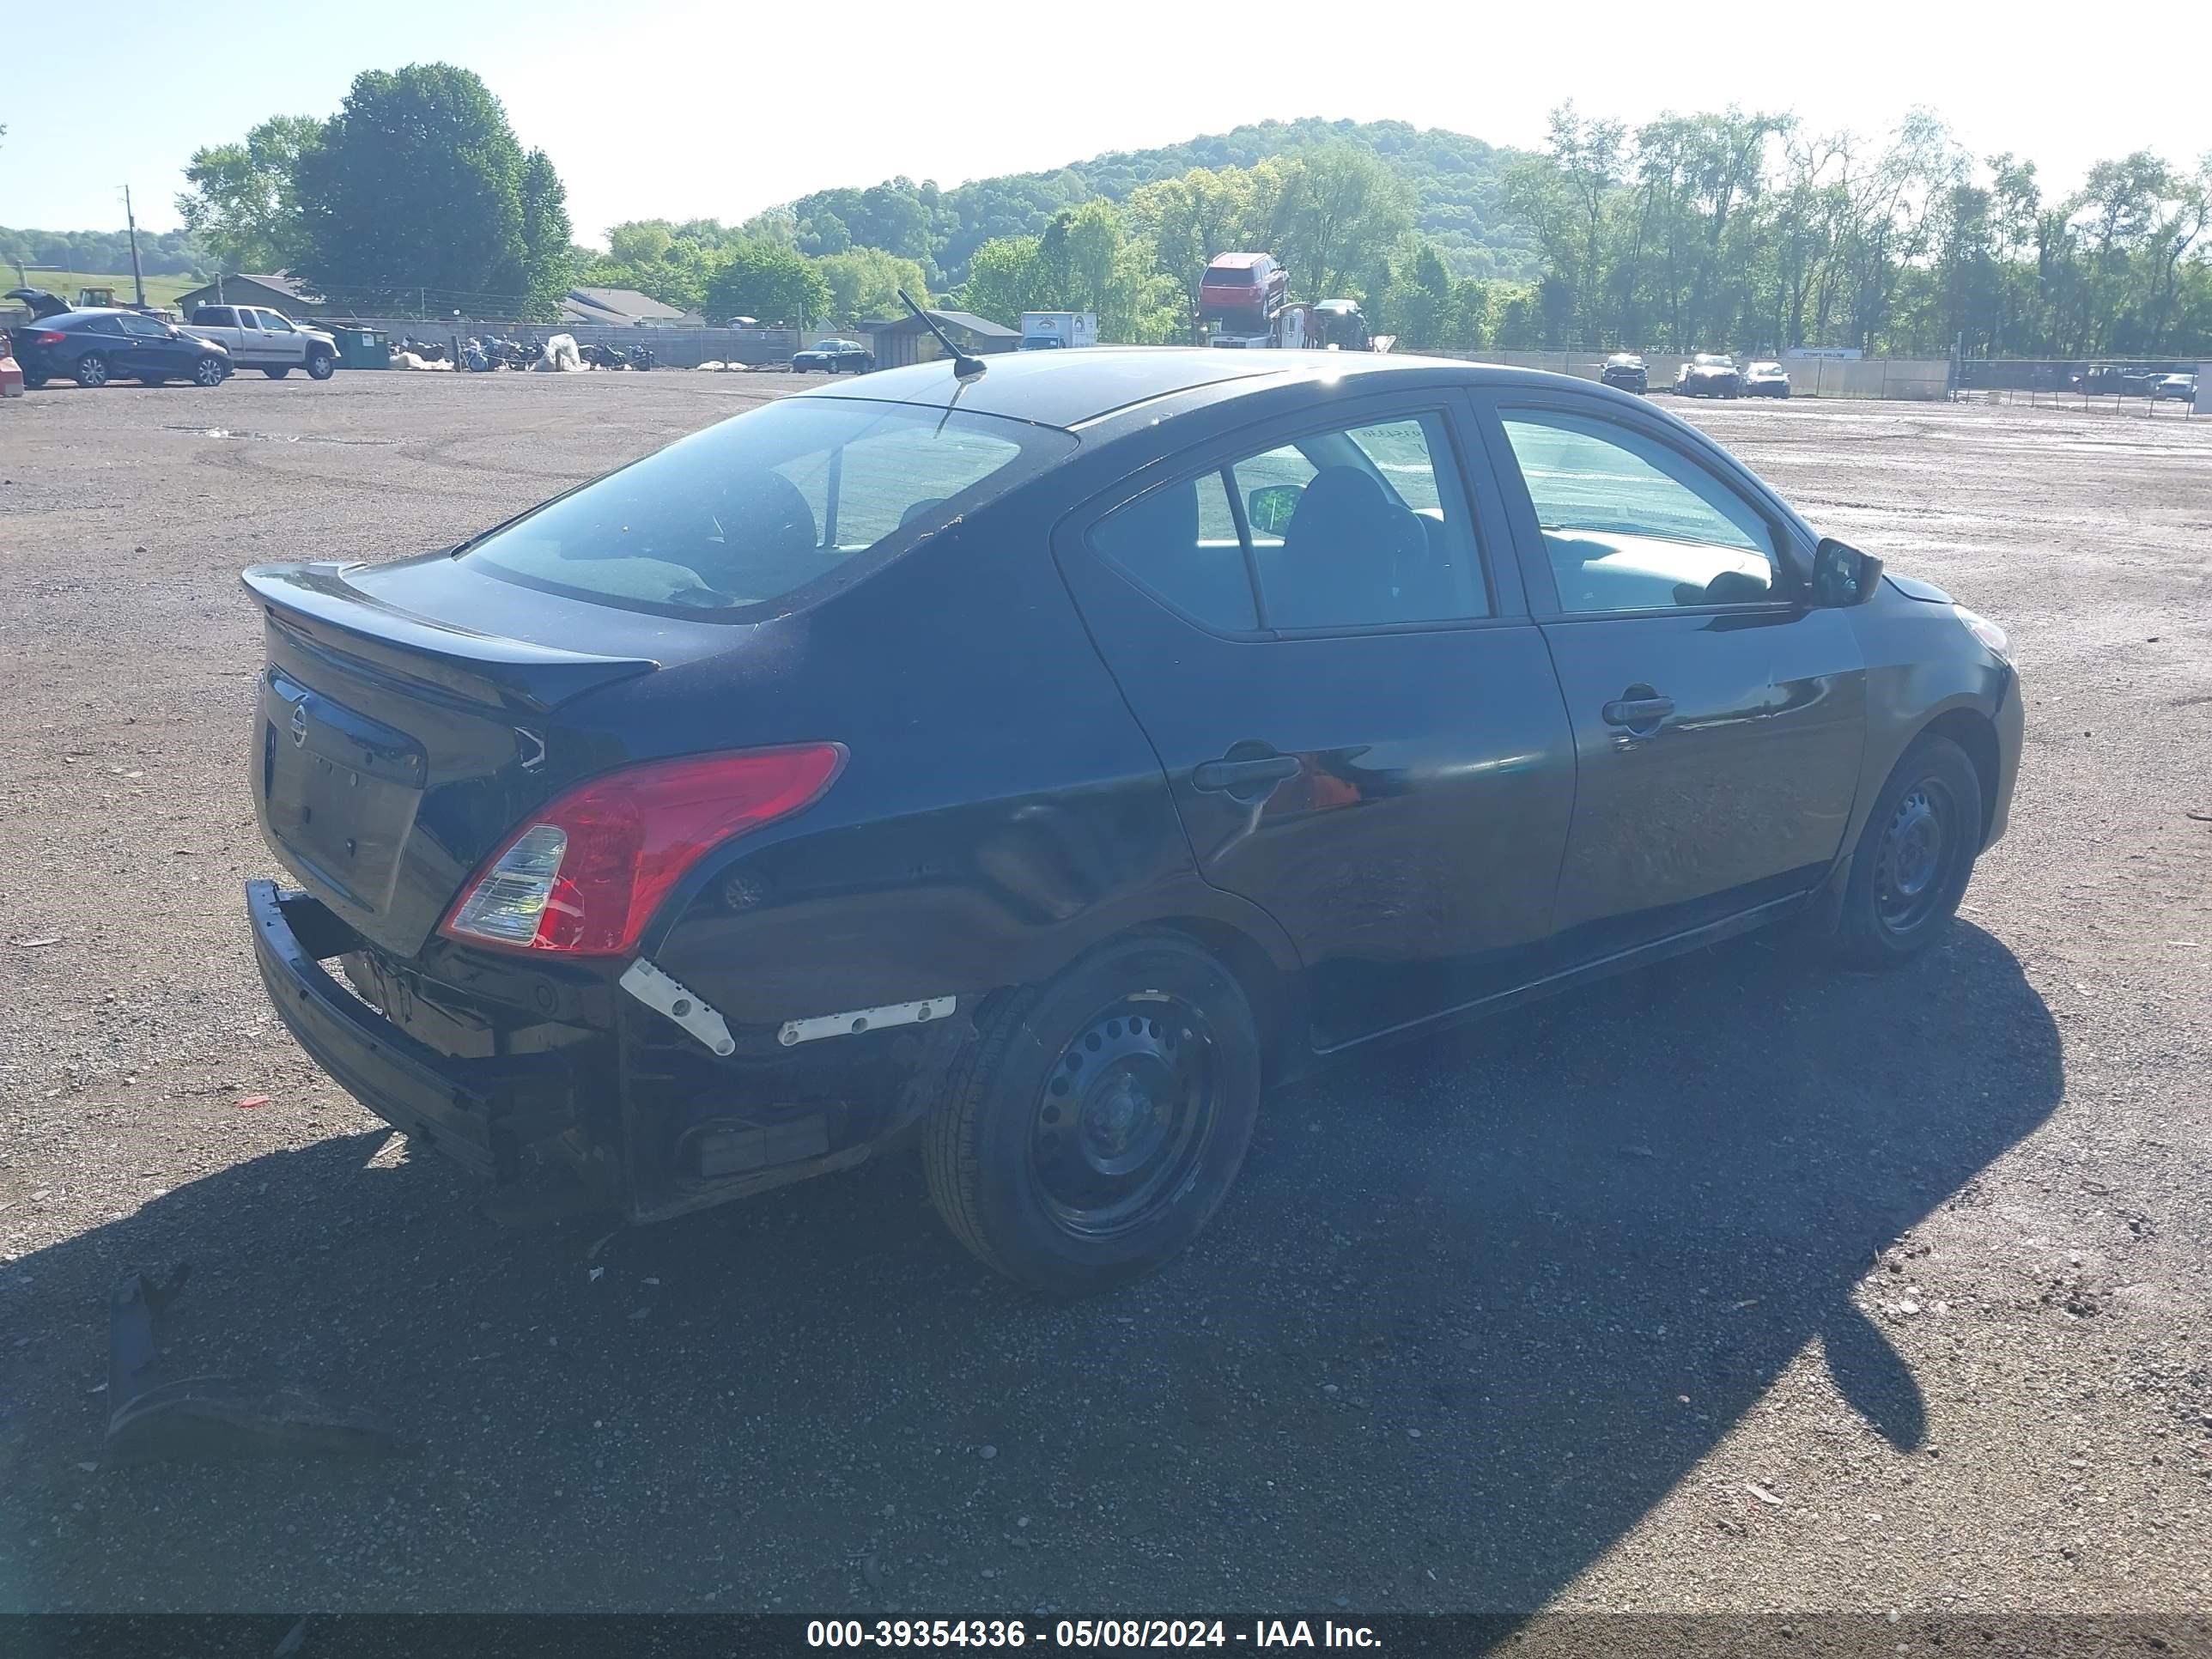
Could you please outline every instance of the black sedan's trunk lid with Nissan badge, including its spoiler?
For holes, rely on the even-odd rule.
[[[551,717],[659,661],[434,619],[369,593],[376,575],[246,573],[268,633],[254,810],[316,898],[414,956],[469,872],[553,792]]]

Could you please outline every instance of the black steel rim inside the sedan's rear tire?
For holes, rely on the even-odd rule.
[[[1206,1015],[1146,991],[1091,1020],[1037,1093],[1029,1172],[1082,1239],[1146,1225],[1206,1155],[1221,1113]]]

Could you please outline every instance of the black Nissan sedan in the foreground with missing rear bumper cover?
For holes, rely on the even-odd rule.
[[[962,367],[246,573],[259,964],[374,1113],[633,1221],[911,1137],[1073,1294],[1318,1055],[1776,922],[1896,967],[2004,834],[2004,635],[1639,398]]]

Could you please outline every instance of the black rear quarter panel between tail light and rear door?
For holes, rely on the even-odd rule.
[[[1062,491],[1018,491],[743,650],[622,688],[630,719],[714,721],[672,750],[847,750],[823,801],[703,858],[646,933],[732,1024],[1042,980],[1172,916],[1294,960],[1197,876],[1046,551]]]

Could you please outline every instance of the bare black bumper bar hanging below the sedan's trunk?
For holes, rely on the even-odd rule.
[[[323,971],[361,940],[319,900],[246,883],[261,982],[299,1046],[411,1141],[511,1181],[524,1146],[573,1119],[575,1066],[560,1055],[456,1060],[400,1031]]]

